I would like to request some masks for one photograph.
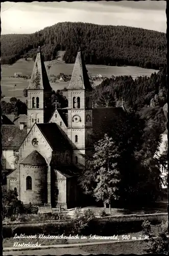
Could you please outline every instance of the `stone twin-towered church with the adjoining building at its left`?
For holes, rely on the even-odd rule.
[[[77,179],[84,156],[92,154],[92,134],[106,133],[123,109],[93,108],[81,50],[67,88],[68,107],[54,110],[52,92],[39,47],[27,88],[27,116],[2,125],[2,162],[8,172],[7,190],[16,190],[23,204],[67,209],[81,200]],[[8,160],[11,152],[18,159],[13,166]]]

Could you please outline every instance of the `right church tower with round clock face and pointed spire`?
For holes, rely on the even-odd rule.
[[[81,50],[78,51],[68,86],[67,135],[73,146],[73,163],[84,165],[90,152],[92,134],[92,87]]]

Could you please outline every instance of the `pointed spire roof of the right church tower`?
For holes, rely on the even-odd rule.
[[[81,51],[78,51],[68,90],[92,90]]]

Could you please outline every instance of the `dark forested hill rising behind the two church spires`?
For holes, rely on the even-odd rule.
[[[73,63],[80,41],[87,64],[138,66],[159,69],[166,65],[166,35],[151,30],[87,23],[58,23],[30,35],[1,36],[2,64],[33,56],[40,45],[45,60],[66,50],[64,60]]]

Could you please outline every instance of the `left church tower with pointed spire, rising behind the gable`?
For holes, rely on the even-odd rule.
[[[52,113],[52,88],[47,77],[40,47],[37,51],[34,69],[27,88],[28,132],[35,122],[46,123]]]

